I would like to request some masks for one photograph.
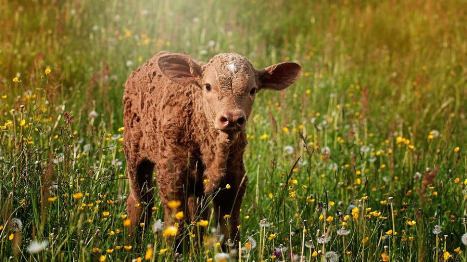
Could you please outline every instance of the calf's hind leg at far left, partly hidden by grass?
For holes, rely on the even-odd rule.
[[[128,163],[128,179],[130,181],[130,195],[126,200],[126,212],[132,221],[133,227],[140,223],[149,224],[154,205],[154,184],[152,182],[154,163],[145,159],[137,164]],[[146,213],[143,215],[143,208]]]

